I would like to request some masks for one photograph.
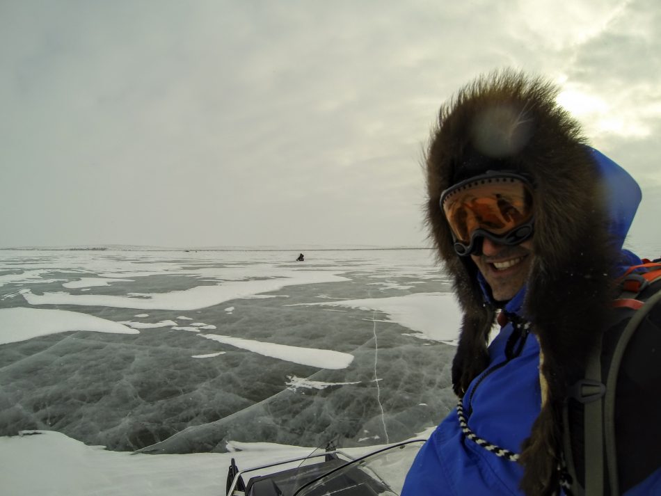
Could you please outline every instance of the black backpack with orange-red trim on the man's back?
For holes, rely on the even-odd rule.
[[[619,496],[661,467],[661,259],[632,266],[563,411],[567,495]]]

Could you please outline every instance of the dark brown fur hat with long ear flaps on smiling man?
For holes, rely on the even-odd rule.
[[[619,257],[598,166],[578,123],[555,102],[557,93],[548,81],[511,70],[479,77],[441,107],[426,156],[427,223],[463,310],[452,366],[459,397],[488,365],[496,309],[485,303],[475,264],[454,252],[440,195],[486,170],[515,170],[534,186],[534,259],[523,313],[539,339],[548,395],[522,446],[520,487],[528,495],[557,486],[562,403],[605,328]]]

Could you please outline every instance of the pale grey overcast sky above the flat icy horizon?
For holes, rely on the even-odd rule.
[[[429,246],[443,101],[564,88],[661,255],[655,0],[0,1],[0,247]]]

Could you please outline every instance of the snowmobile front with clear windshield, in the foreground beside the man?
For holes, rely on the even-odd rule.
[[[226,496],[399,496],[404,478],[424,440],[399,442],[358,458],[329,447],[309,456],[239,470],[234,458],[228,470]],[[282,470],[256,475],[247,472]],[[380,470],[381,474],[376,470]]]

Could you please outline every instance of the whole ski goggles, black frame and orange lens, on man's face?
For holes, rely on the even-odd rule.
[[[440,207],[461,257],[479,255],[485,237],[518,245],[532,236],[532,186],[522,175],[490,172],[471,177],[443,191]]]

